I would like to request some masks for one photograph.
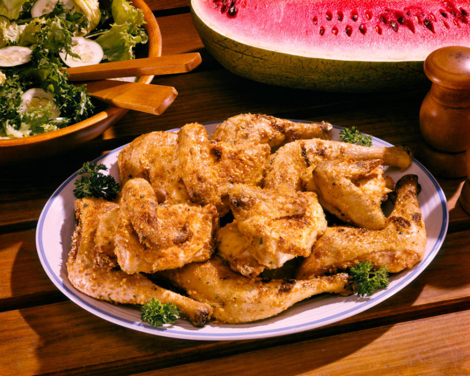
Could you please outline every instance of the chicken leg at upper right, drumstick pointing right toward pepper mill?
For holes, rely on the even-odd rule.
[[[298,140],[285,144],[271,156],[264,188],[301,189],[301,174],[311,165],[324,161],[381,159],[387,166],[401,169],[411,164],[410,150],[404,146],[369,147],[320,139]]]

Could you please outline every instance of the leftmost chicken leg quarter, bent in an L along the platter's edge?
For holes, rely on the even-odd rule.
[[[210,305],[166,290],[141,274],[129,275],[96,264],[92,255],[99,218],[114,209],[115,203],[103,199],[83,198],[75,201],[78,224],[73,233],[67,262],[72,285],[93,298],[113,303],[142,305],[152,298],[162,303],[173,303],[188,316],[194,326],[204,326],[212,315]]]

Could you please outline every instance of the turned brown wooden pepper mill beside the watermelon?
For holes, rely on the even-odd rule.
[[[420,129],[427,144],[420,157],[438,176],[470,176],[470,157],[466,158],[470,141],[470,48],[450,46],[433,51],[424,62],[424,72],[432,85],[421,105]],[[468,212],[469,184],[467,178],[461,195]]]

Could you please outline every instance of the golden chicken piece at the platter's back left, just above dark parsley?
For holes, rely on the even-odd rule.
[[[118,154],[121,185],[129,179],[143,178],[149,180],[152,161],[159,155],[161,147],[174,146],[177,134],[174,132],[150,132],[139,136]]]

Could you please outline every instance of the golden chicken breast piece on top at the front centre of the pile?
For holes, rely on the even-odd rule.
[[[239,232],[250,244],[248,250],[269,269],[296,256],[307,257],[327,228],[314,192],[276,192],[237,184],[230,190],[230,208]],[[220,246],[226,241],[221,238]]]

